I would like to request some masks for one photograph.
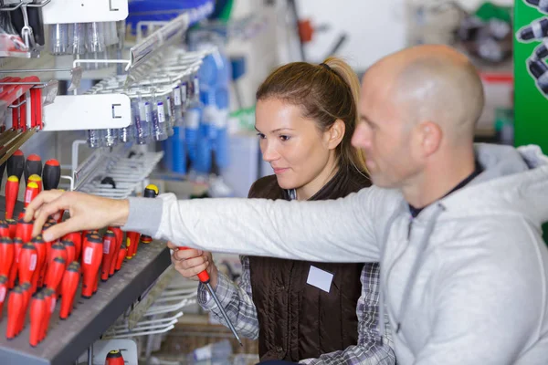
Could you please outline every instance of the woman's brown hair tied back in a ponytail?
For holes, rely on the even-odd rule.
[[[367,172],[364,153],[351,144],[359,122],[359,96],[358,77],[338,57],[328,57],[320,65],[292,62],[281,66],[260,85],[256,94],[257,100],[275,98],[299,106],[304,118],[315,120],[322,131],[329,129],[335,120],[342,120],[345,131],[336,150],[339,165]]]

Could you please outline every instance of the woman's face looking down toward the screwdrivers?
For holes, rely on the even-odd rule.
[[[329,176],[324,175],[332,173],[335,161],[332,131],[321,132],[314,120],[302,117],[299,107],[280,99],[258,100],[255,128],[263,160],[272,166],[281,188],[319,185],[314,188],[318,191],[327,183]]]

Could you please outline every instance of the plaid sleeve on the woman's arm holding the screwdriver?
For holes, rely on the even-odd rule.
[[[257,308],[255,308],[251,297],[249,258],[242,256],[241,261],[242,276],[240,276],[237,285],[219,272],[215,293],[237,333],[248,339],[258,339]],[[198,287],[198,303],[205,310],[212,312],[219,322],[227,326],[225,318],[216,306],[215,300],[211,298],[202,284]]]

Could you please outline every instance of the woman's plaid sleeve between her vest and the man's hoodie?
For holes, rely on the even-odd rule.
[[[378,323],[379,307],[379,265],[365,264],[360,280],[362,295],[358,299],[358,343],[340,351],[321,354],[318,359],[300,361],[309,365],[394,365],[392,334],[386,331],[381,341]]]

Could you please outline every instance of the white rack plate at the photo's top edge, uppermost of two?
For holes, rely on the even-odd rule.
[[[51,0],[42,9],[44,24],[112,22],[128,14],[128,0]]]

